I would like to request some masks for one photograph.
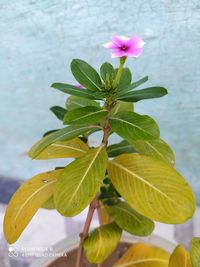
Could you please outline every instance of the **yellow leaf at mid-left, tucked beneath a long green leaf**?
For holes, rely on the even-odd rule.
[[[35,159],[78,158],[83,156],[88,149],[88,146],[79,138],[57,141],[46,147]],[[29,152],[29,156],[31,157],[32,153]]]

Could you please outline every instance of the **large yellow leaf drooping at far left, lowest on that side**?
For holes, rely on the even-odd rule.
[[[4,233],[8,243],[17,241],[37,210],[52,196],[55,183],[62,171],[38,174],[14,193],[4,217]]]

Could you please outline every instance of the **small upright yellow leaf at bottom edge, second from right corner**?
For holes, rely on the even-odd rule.
[[[183,246],[179,245],[175,248],[168,267],[192,267],[190,255]]]

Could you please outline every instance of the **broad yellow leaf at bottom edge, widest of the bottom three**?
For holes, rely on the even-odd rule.
[[[161,248],[137,243],[131,246],[114,267],[168,267],[169,254]]]

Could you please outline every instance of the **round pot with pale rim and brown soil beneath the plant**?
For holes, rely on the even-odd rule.
[[[130,247],[131,244],[137,242],[145,242],[148,244],[159,246],[170,253],[176,246],[175,242],[172,243],[156,235],[152,235],[150,237],[145,238],[137,238],[125,234],[123,235],[120,244],[113,252],[113,254],[106,260],[103,267],[111,267],[124,254],[124,252],[128,249],[128,247]],[[64,239],[53,247],[53,253],[57,255],[66,254],[65,257],[52,256],[48,258],[38,259],[33,264],[31,264],[30,267],[74,267],[78,243],[78,236]],[[89,264],[88,262],[86,262],[85,259],[84,264],[84,267],[96,266]]]

